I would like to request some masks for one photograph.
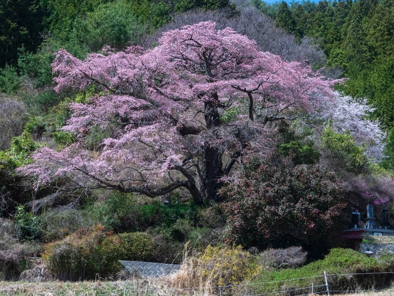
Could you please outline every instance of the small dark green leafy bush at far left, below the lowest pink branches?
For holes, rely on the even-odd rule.
[[[34,240],[41,236],[43,223],[38,215],[25,212],[24,206],[18,206],[14,216],[15,233],[19,240]]]

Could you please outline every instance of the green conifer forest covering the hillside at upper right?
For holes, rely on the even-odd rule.
[[[275,24],[302,39],[314,38],[327,56],[327,67],[348,77],[340,88],[363,97],[374,107],[374,118],[389,133],[385,167],[392,166],[394,3],[390,1],[304,1],[253,5]]]

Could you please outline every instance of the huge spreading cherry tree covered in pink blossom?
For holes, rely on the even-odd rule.
[[[197,204],[220,200],[239,161],[272,144],[275,122],[315,111],[338,82],[212,21],[165,32],[152,50],[107,47],[85,60],[61,50],[52,67],[58,93],[98,90],[71,104],[62,130],[80,141],[97,126],[113,133],[99,151],[78,142],[37,151],[20,169],[37,189],[65,180],[153,198],[183,187]]]

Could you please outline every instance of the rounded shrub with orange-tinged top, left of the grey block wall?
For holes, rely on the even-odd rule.
[[[50,273],[63,281],[108,277],[121,268],[115,246],[103,243],[108,235],[101,225],[74,232],[47,244],[43,260]]]

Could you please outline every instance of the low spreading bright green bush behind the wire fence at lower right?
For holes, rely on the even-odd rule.
[[[351,249],[332,249],[330,253],[323,259],[309,263],[300,268],[281,269],[281,270],[262,270],[262,272],[255,278],[255,282],[268,282],[265,285],[256,285],[253,294],[266,293],[272,291],[285,290],[284,288],[292,287],[292,289],[310,287],[311,283],[314,286],[324,285],[323,273],[327,274],[354,274],[354,273],[369,273],[369,272],[387,272],[391,271],[394,261],[393,257],[385,260],[377,260],[369,258],[365,254],[359,253]],[[315,277],[317,276],[317,277]],[[312,279],[306,277],[314,277]],[[344,276],[329,276],[329,287],[331,290],[354,290],[370,289],[372,285],[374,288],[381,287],[384,283],[389,283],[391,274],[382,276],[373,275],[344,275]],[[296,279],[290,282],[283,280]],[[272,283],[274,282],[274,283]],[[320,287],[325,289],[325,287]],[[322,290],[322,291],[323,291]],[[319,288],[316,288],[319,292]],[[302,293],[301,293],[302,292]],[[297,294],[309,293],[309,290],[297,290]]]

